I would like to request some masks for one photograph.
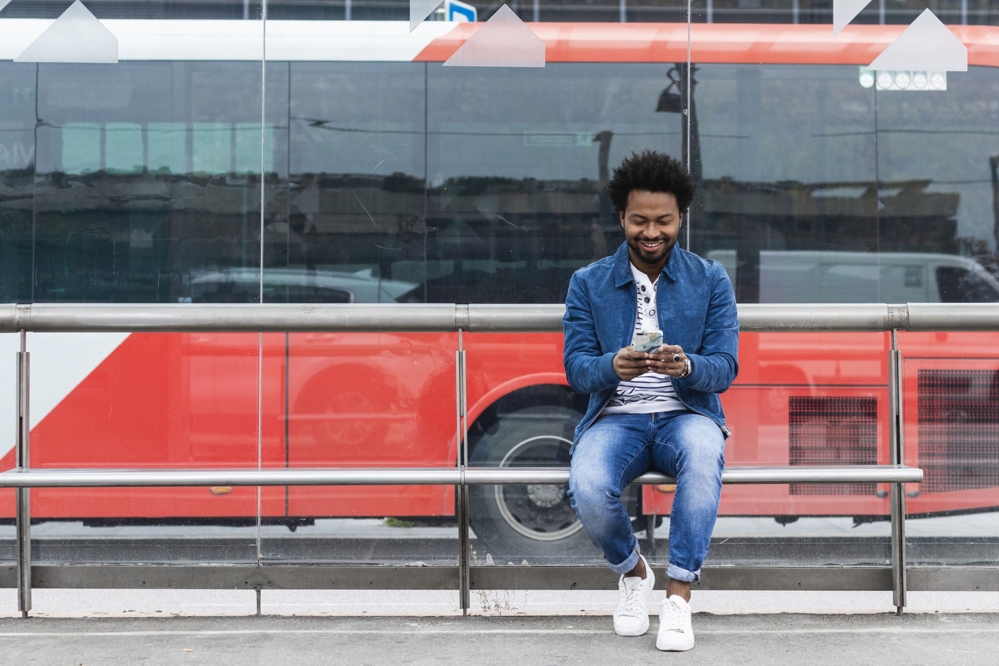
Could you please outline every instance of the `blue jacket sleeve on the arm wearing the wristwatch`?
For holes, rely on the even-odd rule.
[[[739,372],[739,318],[728,274],[720,264],[712,268],[704,336],[699,352],[686,354],[692,364],[690,374],[678,381],[694,390],[722,393]]]

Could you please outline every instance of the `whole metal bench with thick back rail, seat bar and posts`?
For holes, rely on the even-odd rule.
[[[904,484],[919,482],[922,471],[904,460],[901,432],[897,331],[997,331],[999,304],[801,304],[740,305],[743,332],[890,332],[889,454],[892,464],[728,467],[724,483],[891,484],[891,568],[869,567],[705,567],[701,587],[741,589],[891,589],[893,603],[905,606]],[[470,589],[602,589],[612,577],[602,567],[472,566],[469,561],[468,492],[475,484],[557,483],[568,480],[558,467],[471,467],[468,464],[465,333],[560,332],[562,306],[493,305],[0,305],[0,333],[21,333],[18,352],[17,467],[0,473],[0,487],[17,488],[17,564],[0,566],[0,586],[16,577],[18,606],[31,608],[32,586],[186,587],[256,589],[447,589],[457,576],[467,611]],[[459,333],[456,350],[457,417],[462,445],[457,466],[447,468],[241,468],[241,469],[29,469],[28,356],[26,332],[437,332]],[[466,436],[462,436],[465,432]],[[670,483],[662,474],[644,474],[636,483]],[[310,565],[34,565],[31,564],[29,488],[94,486],[206,485],[455,485],[458,489],[459,566],[391,567]],[[335,573],[334,573],[335,571]],[[920,569],[923,578],[942,576],[946,589],[992,589],[995,582],[978,569]],[[888,578],[890,576],[890,579]],[[980,584],[983,580],[984,587]],[[608,582],[610,581],[610,582]],[[718,582],[720,581],[720,582]],[[925,581],[924,581],[925,582]],[[924,586],[924,589],[930,587]]]

